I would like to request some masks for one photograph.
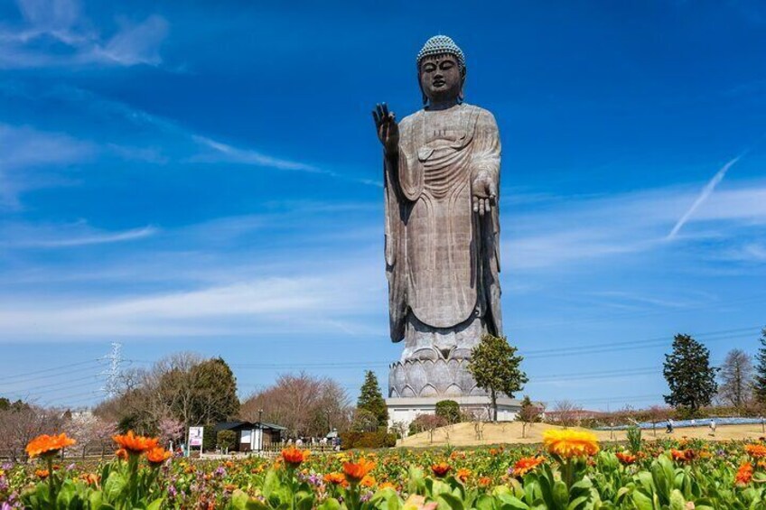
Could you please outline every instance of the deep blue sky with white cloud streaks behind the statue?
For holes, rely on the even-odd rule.
[[[505,333],[523,392],[661,402],[663,354],[766,326],[760,2],[0,3],[0,394],[98,402],[222,356],[383,385],[380,148],[445,33],[503,144]],[[737,159],[738,158],[738,159]]]

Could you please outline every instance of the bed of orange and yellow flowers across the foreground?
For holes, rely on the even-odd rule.
[[[71,440],[32,441],[32,463],[0,468],[2,509],[766,508],[762,441],[664,441],[628,451],[602,449],[587,432],[547,431],[536,447],[288,449],[276,460],[206,461],[169,459],[156,440],[132,433],[115,440],[115,459],[68,466],[58,459]]]

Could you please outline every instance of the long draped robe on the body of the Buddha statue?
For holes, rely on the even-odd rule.
[[[479,319],[502,334],[497,200],[484,216],[472,209],[478,173],[500,189],[494,117],[466,104],[407,116],[384,172],[391,339],[405,338],[409,314],[434,330]]]

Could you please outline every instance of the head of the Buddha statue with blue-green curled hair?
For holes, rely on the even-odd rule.
[[[417,76],[424,105],[462,101],[465,56],[451,38],[436,35],[417,54]]]

